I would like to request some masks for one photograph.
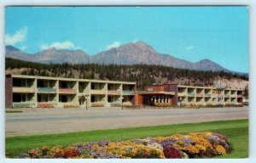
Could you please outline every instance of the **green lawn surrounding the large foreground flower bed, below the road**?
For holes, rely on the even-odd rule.
[[[69,143],[102,139],[114,141],[204,131],[218,132],[229,137],[229,142],[233,147],[231,154],[219,156],[218,158],[245,158],[248,156],[248,120],[236,120],[11,137],[6,138],[6,157],[15,158],[21,152],[27,152],[28,149],[32,148],[41,148],[43,145],[48,145],[49,147],[54,145],[65,146]]]

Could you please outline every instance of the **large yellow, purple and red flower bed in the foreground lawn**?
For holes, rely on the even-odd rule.
[[[227,137],[212,132],[191,132],[169,137],[73,143],[49,148],[29,149],[20,158],[95,158],[95,159],[177,159],[209,158],[230,153]]]

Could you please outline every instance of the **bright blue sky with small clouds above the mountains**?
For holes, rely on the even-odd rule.
[[[26,53],[90,55],[144,41],[159,53],[248,72],[247,7],[7,7],[5,42]]]

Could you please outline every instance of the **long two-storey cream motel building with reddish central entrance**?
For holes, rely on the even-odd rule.
[[[242,90],[167,82],[137,91],[136,82],[5,76],[6,108],[87,108],[242,104]]]

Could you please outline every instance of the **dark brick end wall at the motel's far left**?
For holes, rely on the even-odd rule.
[[[5,76],[5,108],[13,107],[13,78]]]

